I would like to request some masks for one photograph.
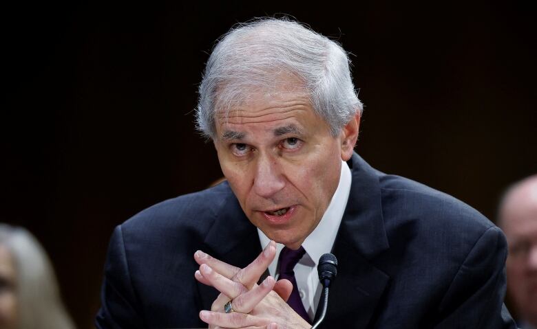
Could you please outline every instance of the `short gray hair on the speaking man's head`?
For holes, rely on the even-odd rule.
[[[198,130],[215,138],[215,114],[268,89],[286,73],[303,82],[315,112],[336,136],[363,111],[350,75],[347,53],[308,27],[289,19],[264,18],[232,28],[215,45],[199,89]]]

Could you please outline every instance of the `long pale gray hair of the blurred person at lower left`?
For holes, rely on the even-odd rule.
[[[0,245],[10,251],[17,269],[17,328],[74,328],[61,302],[52,264],[36,238],[22,227],[0,224]]]

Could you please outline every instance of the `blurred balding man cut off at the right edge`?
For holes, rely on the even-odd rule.
[[[509,244],[507,293],[520,328],[537,328],[537,175],[512,185],[498,214]]]

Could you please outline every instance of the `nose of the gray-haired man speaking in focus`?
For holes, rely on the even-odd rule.
[[[271,198],[285,186],[285,179],[275,157],[260,155],[255,162],[254,192],[263,198]]]

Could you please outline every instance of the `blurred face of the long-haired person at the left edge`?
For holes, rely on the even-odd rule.
[[[16,277],[11,254],[0,245],[0,329],[17,328]]]

